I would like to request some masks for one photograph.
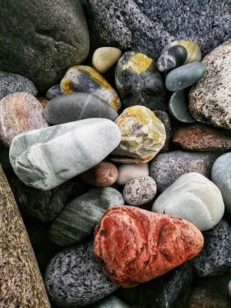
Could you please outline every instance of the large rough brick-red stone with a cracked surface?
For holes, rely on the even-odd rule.
[[[170,271],[202,246],[195,225],[133,206],[109,208],[94,230],[95,256],[108,277],[123,287]]]

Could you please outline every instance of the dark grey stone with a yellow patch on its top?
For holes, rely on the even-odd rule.
[[[164,79],[151,58],[138,51],[127,51],[115,69],[115,85],[125,108],[135,105],[167,110],[168,93]]]

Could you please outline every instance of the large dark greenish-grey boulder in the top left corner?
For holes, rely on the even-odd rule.
[[[4,3],[0,28],[1,70],[27,77],[42,92],[88,55],[89,33],[80,0]]]

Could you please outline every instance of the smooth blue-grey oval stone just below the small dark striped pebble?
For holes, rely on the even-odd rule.
[[[206,66],[201,62],[194,62],[175,68],[170,71],[165,80],[165,86],[169,91],[183,90],[201,79]]]

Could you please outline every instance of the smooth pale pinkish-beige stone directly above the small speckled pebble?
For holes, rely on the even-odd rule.
[[[148,163],[143,164],[120,164],[118,166],[118,185],[125,185],[137,177],[149,176]]]

